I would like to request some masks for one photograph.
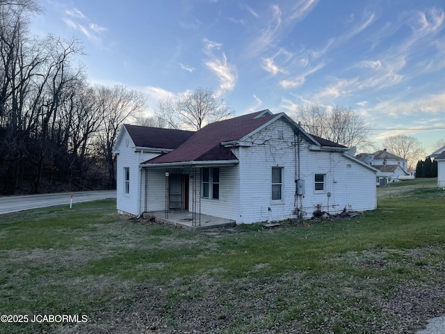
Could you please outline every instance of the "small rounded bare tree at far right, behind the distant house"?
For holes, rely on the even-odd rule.
[[[398,157],[406,159],[408,161],[409,170],[415,168],[417,161],[425,157],[425,150],[419,139],[414,136],[407,136],[406,134],[389,136],[385,138],[383,145],[392,154],[396,154]]]

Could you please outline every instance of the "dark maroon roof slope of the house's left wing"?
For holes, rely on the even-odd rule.
[[[124,125],[131,140],[137,148],[164,148],[174,150],[184,143],[195,132],[177,129],[162,129],[160,127],[141,127],[139,125]]]

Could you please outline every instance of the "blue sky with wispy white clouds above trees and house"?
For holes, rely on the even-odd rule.
[[[92,84],[142,90],[151,109],[201,87],[236,115],[337,104],[376,143],[408,134],[430,154],[445,138],[443,0],[40,3],[33,33],[79,38]]]

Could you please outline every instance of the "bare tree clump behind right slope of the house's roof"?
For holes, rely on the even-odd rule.
[[[372,145],[371,127],[351,107],[303,104],[297,106],[291,117],[309,134],[329,141],[359,150]]]

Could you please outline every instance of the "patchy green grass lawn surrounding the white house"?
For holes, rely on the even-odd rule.
[[[111,200],[0,216],[0,333],[414,333],[445,314],[445,191],[378,189],[343,221],[192,232]]]

